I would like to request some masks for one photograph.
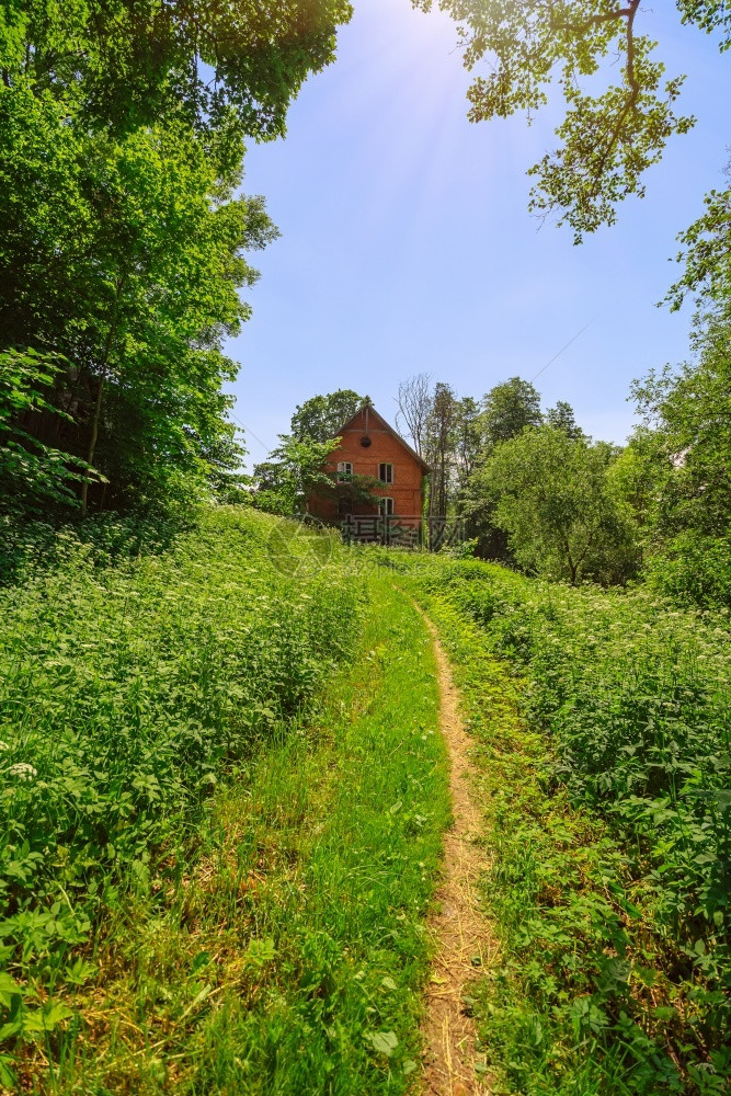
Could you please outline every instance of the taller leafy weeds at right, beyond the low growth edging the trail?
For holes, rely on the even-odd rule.
[[[546,732],[544,790],[534,797],[545,802],[539,825],[509,803],[510,836],[498,834],[493,875],[504,892],[517,887],[536,903],[524,903],[515,928],[524,951],[536,945],[515,960],[526,984],[546,996],[547,1013],[575,1009],[578,1041],[625,1048],[635,1061],[628,1092],[723,1091],[731,1069],[728,612],[682,610],[646,589],[530,581],[477,560],[391,553],[391,562],[479,626],[484,650],[525,678],[528,728]],[[521,778],[534,779],[528,774]],[[550,812],[551,799],[562,798],[586,817],[586,848],[571,857],[561,848],[575,842],[573,823]],[[523,797],[526,806],[533,810]],[[593,844],[596,826],[606,836]],[[549,827],[556,841],[545,840]],[[525,863],[513,855],[516,833]],[[511,849],[503,859],[501,844]],[[535,894],[529,860],[541,880]],[[584,882],[567,899],[579,886],[574,874],[594,889]],[[673,1062],[684,1063],[685,1081]]]

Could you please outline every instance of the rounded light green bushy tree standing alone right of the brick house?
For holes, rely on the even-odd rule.
[[[524,430],[499,445],[475,488],[491,503],[518,563],[572,584],[587,574],[617,581],[637,562],[629,515],[613,494],[612,446],[563,430]]]

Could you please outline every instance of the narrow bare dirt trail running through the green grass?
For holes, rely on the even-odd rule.
[[[459,694],[436,628],[421,609],[434,642],[439,683],[439,722],[449,753],[449,791],[454,824],[444,840],[442,883],[436,892],[438,912],[430,929],[436,943],[424,1037],[423,1096],[489,1096],[488,1074],[478,1076],[481,1061],[476,1048],[476,1026],[465,996],[469,984],[496,956],[490,924],[482,916],[477,880],[489,867],[477,841],[482,817],[470,788],[476,773],[470,760],[472,740],[459,712]]]

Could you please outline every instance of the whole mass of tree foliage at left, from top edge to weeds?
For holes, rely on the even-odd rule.
[[[243,139],[284,132],[349,16],[343,0],[0,3],[0,350],[67,361],[26,452],[103,470],[83,512],[239,490],[222,344],[249,316],[244,254],[275,235],[240,196]]]

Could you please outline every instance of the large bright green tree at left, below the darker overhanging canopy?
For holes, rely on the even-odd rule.
[[[0,87],[2,340],[68,361],[39,441],[99,467],[107,502],[205,491],[230,432],[221,342],[249,315],[243,252],[274,235],[239,183],[183,123],[89,134]]]

